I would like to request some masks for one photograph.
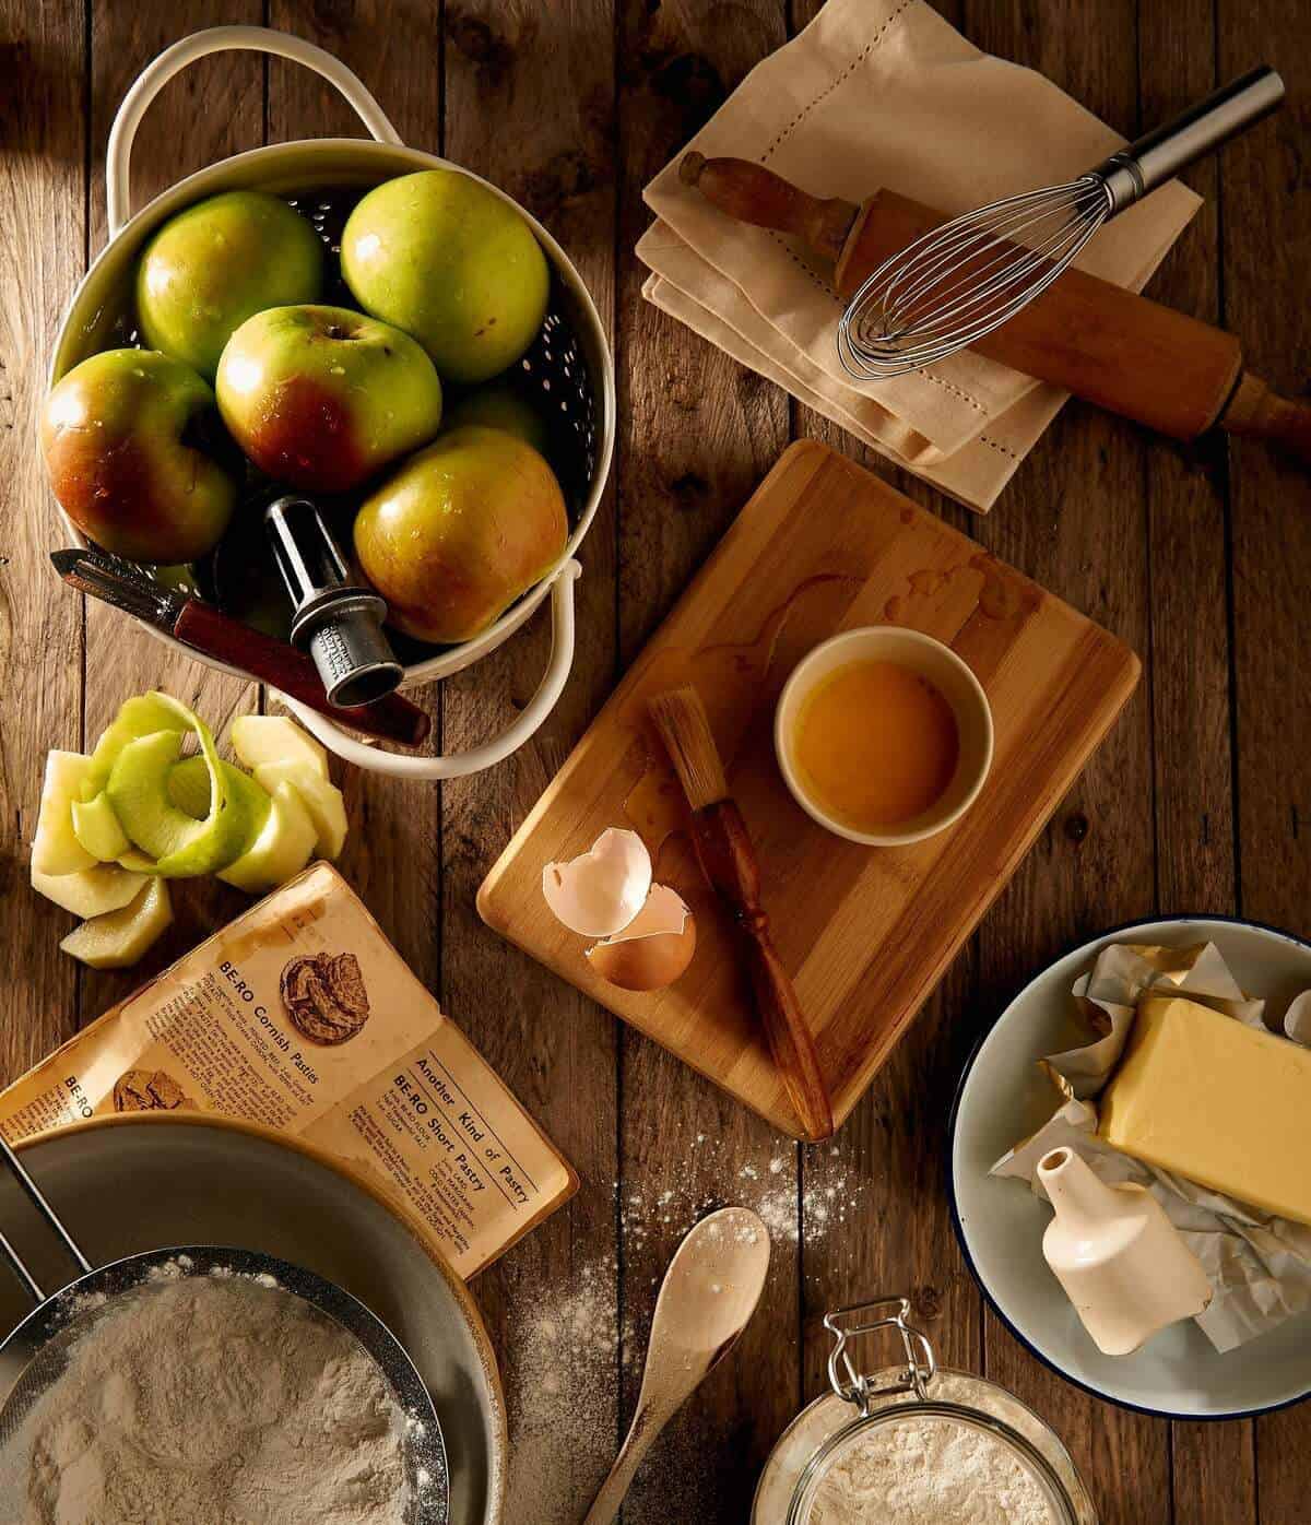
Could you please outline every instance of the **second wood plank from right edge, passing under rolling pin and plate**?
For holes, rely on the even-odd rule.
[[[1210,0],[1139,8],[1139,114],[1169,120],[1215,88]],[[1186,180],[1204,198],[1151,294],[1210,323],[1220,313],[1218,160]],[[1165,913],[1235,910],[1229,744],[1227,459],[1216,436],[1177,447],[1143,435],[1151,581],[1151,729],[1157,901]],[[1172,1424],[1175,1519],[1256,1520],[1253,1426]]]

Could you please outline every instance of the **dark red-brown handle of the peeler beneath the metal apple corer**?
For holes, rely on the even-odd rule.
[[[418,747],[431,729],[431,718],[401,694],[386,694],[372,705],[352,709],[329,705],[319,669],[303,651],[287,640],[274,640],[273,636],[252,630],[197,598],[186,602],[172,633],[197,651],[239,666],[262,683],[271,683],[291,698],[317,709],[320,715],[366,737]]]

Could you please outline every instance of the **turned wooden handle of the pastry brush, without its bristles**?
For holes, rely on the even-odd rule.
[[[761,904],[756,851],[733,801],[721,799],[694,811],[692,840],[701,872],[742,930],[756,1011],[805,1138],[826,1139],[834,1132],[828,1086],[797,993],[770,938],[770,920]]]

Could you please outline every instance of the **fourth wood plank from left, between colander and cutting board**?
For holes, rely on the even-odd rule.
[[[447,11],[445,151],[503,186],[570,252],[613,337],[614,9],[611,0]],[[508,1520],[579,1519],[619,1423],[613,1022],[497,946],[474,894],[614,673],[614,499],[581,547],[578,656],[537,738],[491,773],[444,790],[444,965],[450,1010],[582,1176],[559,1212],[479,1278],[505,1360],[514,1443]],[[506,726],[549,651],[549,615],[445,685],[447,746]]]

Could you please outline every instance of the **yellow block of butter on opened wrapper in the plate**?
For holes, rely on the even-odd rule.
[[[1134,1159],[1311,1223],[1311,1049],[1181,997],[1139,1005],[1098,1133]]]

